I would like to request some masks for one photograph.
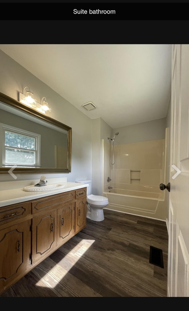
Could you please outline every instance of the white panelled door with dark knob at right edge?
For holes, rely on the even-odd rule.
[[[168,297],[189,297],[189,44],[172,45]]]

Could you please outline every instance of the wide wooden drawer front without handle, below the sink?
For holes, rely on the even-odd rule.
[[[40,211],[48,211],[53,208],[57,208],[57,205],[64,202],[68,202],[75,199],[75,191],[64,192],[60,194],[54,194],[49,197],[43,197],[32,202],[32,214]]]

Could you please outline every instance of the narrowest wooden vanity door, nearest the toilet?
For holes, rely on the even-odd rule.
[[[86,226],[86,197],[76,201],[75,232]]]

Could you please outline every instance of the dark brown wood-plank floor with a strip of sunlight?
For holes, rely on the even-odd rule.
[[[168,233],[160,220],[104,209],[1,297],[167,297]],[[149,263],[162,249],[164,268]]]

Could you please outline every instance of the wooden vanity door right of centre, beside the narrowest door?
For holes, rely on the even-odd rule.
[[[75,202],[67,203],[57,210],[57,245],[63,244],[74,235]]]

